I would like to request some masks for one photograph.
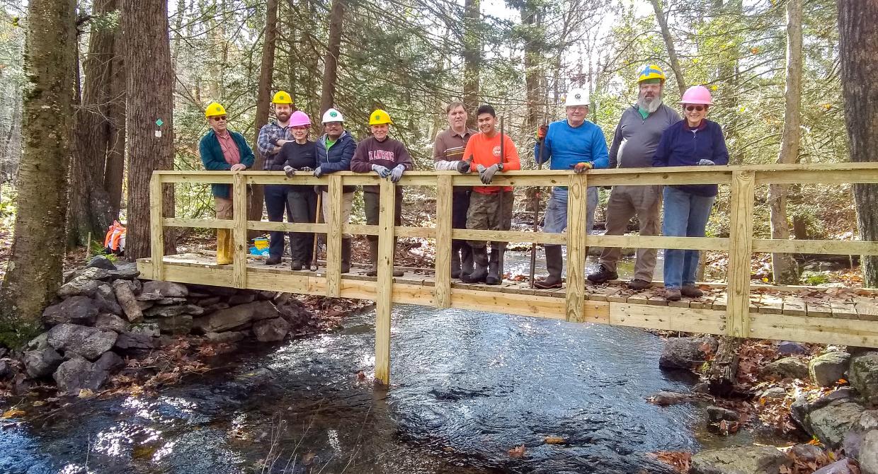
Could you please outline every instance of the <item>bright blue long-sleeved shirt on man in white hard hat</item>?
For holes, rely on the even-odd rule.
[[[607,139],[600,126],[585,121],[581,126],[572,127],[567,120],[549,124],[546,132],[543,162],[550,162],[550,169],[573,169],[579,162],[592,162],[594,168],[607,168],[609,154]],[[540,144],[534,146],[536,162],[540,161]]]

